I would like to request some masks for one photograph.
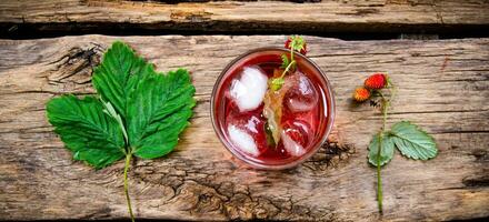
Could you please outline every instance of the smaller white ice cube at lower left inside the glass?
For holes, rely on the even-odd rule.
[[[246,131],[237,128],[233,124],[230,124],[228,125],[228,133],[232,144],[238,147],[241,151],[253,157],[258,157],[260,154],[253,138]]]

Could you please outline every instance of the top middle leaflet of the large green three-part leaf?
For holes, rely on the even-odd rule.
[[[103,54],[102,63],[93,70],[92,83],[104,101],[126,119],[127,100],[132,97],[136,84],[154,68],[137,56],[126,43],[116,41]]]

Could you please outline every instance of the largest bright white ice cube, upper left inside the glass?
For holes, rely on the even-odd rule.
[[[241,112],[257,109],[267,92],[268,78],[258,67],[246,67],[240,75],[231,82],[230,95]]]

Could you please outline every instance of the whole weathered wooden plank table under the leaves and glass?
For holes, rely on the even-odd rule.
[[[130,192],[140,219],[489,216],[489,38],[345,41],[307,36],[309,57],[332,83],[337,119],[329,142],[296,169],[244,167],[221,145],[209,117],[220,71],[250,48],[281,46],[286,37],[270,33],[483,36],[478,30],[489,27],[487,1],[4,0],[0,27],[0,220],[128,216],[123,163],[94,171],[72,161],[46,119],[50,98],[94,92],[92,68],[114,40],[128,42],[160,71],[188,68],[197,88],[196,114],[177,150],[132,162]],[[124,31],[131,36],[90,34]],[[198,36],[178,36],[187,31]],[[232,36],[241,32],[247,36]],[[253,33],[261,36],[248,36]],[[411,120],[436,138],[440,150],[428,162],[397,153],[383,168],[383,215],[377,212],[376,171],[366,159],[381,117],[350,99],[372,72],[387,72],[399,85],[389,123]]]

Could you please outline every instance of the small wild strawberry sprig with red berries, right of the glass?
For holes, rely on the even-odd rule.
[[[382,128],[376,133],[369,144],[368,162],[377,167],[377,202],[382,213],[382,179],[380,168],[393,157],[395,147],[406,158],[428,160],[438,154],[435,139],[418,125],[401,121],[387,129],[388,109],[396,88],[385,73],[375,73],[365,80],[363,87],[357,88],[353,99],[357,102],[370,101],[372,107],[380,107],[382,112]]]

